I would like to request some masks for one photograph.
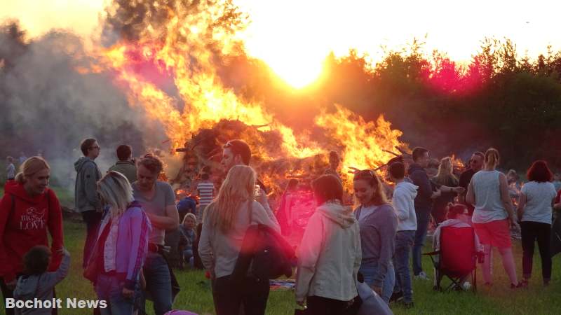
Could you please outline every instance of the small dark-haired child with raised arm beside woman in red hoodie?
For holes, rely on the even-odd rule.
[[[70,266],[70,253],[61,248],[62,262],[55,272],[46,272],[50,264],[50,249],[39,245],[32,247],[23,257],[24,275],[18,279],[13,297],[15,300],[53,300],[53,289],[65,279]],[[51,314],[53,309],[15,309],[15,314]]]

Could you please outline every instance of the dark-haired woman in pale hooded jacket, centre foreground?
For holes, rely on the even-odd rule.
[[[351,314],[362,260],[358,222],[351,209],[342,206],[343,187],[337,177],[320,176],[312,186],[318,208],[298,250],[296,302],[307,304],[309,314]]]

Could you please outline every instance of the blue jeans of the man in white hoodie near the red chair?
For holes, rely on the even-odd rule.
[[[396,233],[396,251],[393,253],[393,267],[396,269],[396,286],[393,292],[403,292],[405,302],[413,302],[409,255],[415,239],[415,231]]]

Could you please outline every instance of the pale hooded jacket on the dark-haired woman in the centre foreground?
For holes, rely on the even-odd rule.
[[[311,216],[298,248],[296,297],[352,300],[362,255],[360,231],[351,209],[322,204]]]

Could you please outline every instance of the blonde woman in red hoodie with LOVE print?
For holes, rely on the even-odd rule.
[[[0,276],[4,299],[13,297],[16,276],[22,274],[23,256],[36,245],[48,246],[52,237],[53,260],[48,271],[58,269],[62,255],[62,210],[53,190],[48,188],[50,167],[34,156],[20,166],[15,181],[8,181],[0,201]],[[6,309],[6,314],[14,314]]]

